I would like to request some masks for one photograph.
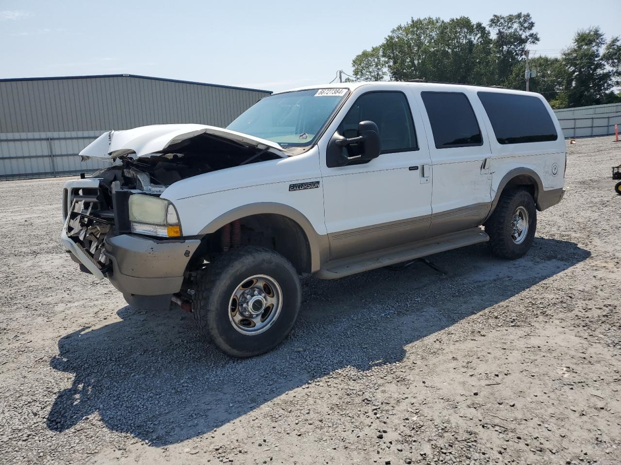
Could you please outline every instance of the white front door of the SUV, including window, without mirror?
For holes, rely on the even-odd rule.
[[[419,112],[412,115],[402,91],[354,97],[335,130],[351,138],[361,121],[376,123],[381,154],[363,164],[329,167],[327,144],[320,147],[330,260],[423,239],[432,213],[431,159],[424,133],[417,138],[415,131],[423,127]],[[332,126],[327,135],[333,133]]]

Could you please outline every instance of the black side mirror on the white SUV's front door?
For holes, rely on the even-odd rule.
[[[358,123],[358,136],[346,138],[334,133],[325,154],[329,168],[363,164],[377,158],[381,151],[378,125],[372,121]]]

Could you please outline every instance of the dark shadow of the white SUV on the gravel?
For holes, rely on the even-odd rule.
[[[573,242],[537,238],[508,262],[484,244],[341,280],[307,278],[296,328],[273,352],[233,360],[200,339],[178,308],[140,312],[63,337],[50,365],[75,373],[48,414],[63,432],[98,413],[111,430],[162,446],[202,435],[340,368],[403,360],[407,345],[509,299],[589,257]]]

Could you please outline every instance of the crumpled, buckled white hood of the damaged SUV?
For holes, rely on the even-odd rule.
[[[196,136],[208,134],[243,146],[267,149],[281,157],[291,155],[275,142],[215,126],[196,124],[173,124],[140,126],[139,128],[107,131],[88,144],[80,153],[82,159],[92,157],[115,159],[122,155],[136,154],[138,157],[152,153],[163,153],[170,146]]]

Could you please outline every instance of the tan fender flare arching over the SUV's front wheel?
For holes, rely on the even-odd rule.
[[[285,205],[284,203],[257,202],[238,206],[210,221],[207,226],[201,229],[198,235],[212,234],[225,224],[235,221],[235,219],[242,219],[246,216],[270,214],[289,218],[302,229],[311,252],[311,273],[318,271],[321,265],[328,261],[330,250],[328,236],[326,234],[317,233],[311,221],[309,221],[301,211],[296,210],[292,206]]]

